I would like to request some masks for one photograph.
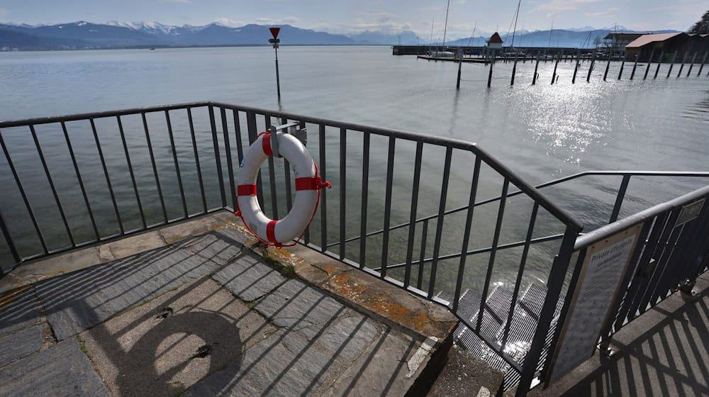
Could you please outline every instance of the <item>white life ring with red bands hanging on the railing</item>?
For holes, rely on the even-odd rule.
[[[279,153],[291,164],[296,177],[296,196],[291,211],[284,218],[273,220],[259,206],[256,178],[261,164],[273,155],[271,133],[266,132],[259,134],[239,165],[235,214],[261,242],[282,247],[285,242],[303,235],[318,209],[320,189],[332,185],[320,179],[318,165],[301,141],[285,133],[277,134],[277,139]]]

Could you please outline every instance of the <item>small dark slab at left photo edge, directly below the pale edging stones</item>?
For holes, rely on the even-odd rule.
[[[31,287],[24,286],[0,297],[0,335],[37,324],[41,320],[40,304]]]

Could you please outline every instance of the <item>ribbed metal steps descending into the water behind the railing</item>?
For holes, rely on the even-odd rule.
[[[453,299],[452,294],[444,291],[438,293],[437,296],[447,301],[452,301]],[[547,296],[547,288],[536,283],[530,284],[525,291],[518,295],[515,312],[510,323],[505,352],[520,364],[524,363],[527,351],[531,346],[545,296]],[[488,340],[496,342],[498,346],[502,345],[512,298],[512,289],[506,286],[496,286],[485,301],[480,333]],[[459,299],[458,314],[462,318],[468,318],[472,324],[475,324],[480,309],[480,299],[480,296],[474,291],[469,289],[464,291]],[[542,351],[542,360],[540,360],[542,363],[547,356],[547,347],[552,339],[554,328],[556,328],[562,305],[563,301],[560,300],[557,303],[552,326],[549,328],[545,349]],[[515,370],[510,370],[510,365],[463,323],[460,323],[454,332],[454,342],[464,350],[474,353],[476,357],[484,360],[491,367],[501,370],[505,374],[503,387],[506,391],[518,384],[520,374]]]

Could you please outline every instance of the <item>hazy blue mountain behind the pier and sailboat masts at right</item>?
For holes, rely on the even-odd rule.
[[[593,43],[596,38],[602,39],[605,35],[613,31],[613,29],[593,29],[593,30],[568,30],[554,29],[549,35],[549,30],[535,30],[534,32],[515,34],[515,47],[594,47]],[[657,30],[652,33],[674,33],[676,30]],[[471,45],[484,45],[488,37],[476,37]],[[503,35],[505,40],[504,46],[509,46],[512,43],[512,33]],[[470,38],[460,38],[446,45],[452,47],[458,45],[468,45]]]

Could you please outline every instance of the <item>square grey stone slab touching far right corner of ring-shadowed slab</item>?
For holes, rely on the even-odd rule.
[[[218,269],[212,278],[247,302],[261,298],[286,282],[286,278],[279,272],[250,254],[241,255]]]

